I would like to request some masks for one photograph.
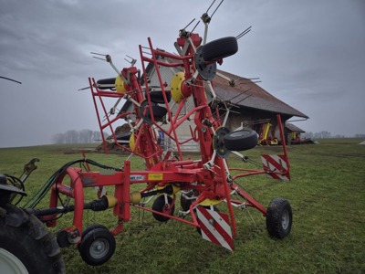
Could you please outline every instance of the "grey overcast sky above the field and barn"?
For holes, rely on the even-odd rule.
[[[99,130],[88,78],[115,77],[90,51],[122,69],[138,46],[175,51],[179,29],[213,1],[0,0],[0,147],[47,144],[68,130]],[[210,10],[210,15],[216,5]],[[188,27],[191,30],[192,26]],[[225,0],[208,41],[237,36],[221,69],[309,116],[307,132],[365,133],[365,1]],[[203,24],[195,31],[203,35]]]

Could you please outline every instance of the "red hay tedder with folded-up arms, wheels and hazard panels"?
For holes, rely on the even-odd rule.
[[[113,79],[89,79],[100,131],[111,131],[109,138],[102,134],[104,147],[108,152],[108,145],[113,143],[129,156],[120,168],[103,166],[86,157],[68,163],[26,204],[27,214],[37,216],[47,227],[56,226],[58,215],[73,212],[72,223],[57,233],[57,243],[61,248],[78,244],[81,257],[90,265],[103,264],[113,255],[114,236],[131,220],[133,206],[151,212],[159,222],[173,219],[197,227],[204,239],[229,250],[234,249],[233,238],[237,233],[235,208],[254,207],[260,211],[266,217],[271,237],[283,238],[290,233],[292,210],[286,199],[274,198],[266,208],[237,184],[256,174],[288,180],[286,144],[283,142],[281,155],[261,156],[261,170],[230,167],[231,154],[241,158],[243,164],[250,161],[239,152],[254,148],[257,134],[244,126],[230,131],[226,122],[232,106],[214,92],[214,77],[222,77],[217,64],[222,65],[224,58],[237,52],[238,37],[207,43],[211,17],[205,13],[202,20],[203,37],[187,31],[186,27],[180,30],[174,43],[178,54],[154,47],[148,38],[148,47],[140,46],[141,70],[135,67],[134,59],[130,67],[119,70],[109,55],[98,55],[117,73]],[[165,77],[167,70],[173,71],[170,79]],[[234,80],[227,81],[234,84]],[[108,109],[110,99],[115,104]],[[189,108],[188,100],[192,102]],[[120,102],[124,106],[116,111]],[[128,132],[115,131],[121,121],[128,123]],[[277,121],[281,139],[285,140],[279,115]],[[190,126],[183,127],[188,122]],[[186,128],[190,138],[182,140]],[[186,142],[198,144],[199,159],[185,156]],[[133,169],[132,156],[141,157],[145,169]],[[84,168],[73,167],[76,163],[82,163]],[[91,171],[90,165],[97,165],[100,170]],[[87,187],[98,190],[97,199],[89,203],[84,198]],[[49,208],[36,209],[47,190],[51,192]],[[61,196],[67,196],[73,203],[58,205]],[[224,206],[220,205],[218,210],[221,203]],[[83,226],[86,209],[109,208],[118,218],[116,227]]]

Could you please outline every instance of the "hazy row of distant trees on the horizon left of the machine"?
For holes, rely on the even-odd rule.
[[[67,131],[57,133],[52,137],[53,143],[89,143],[100,142],[101,140],[101,133],[91,130]]]

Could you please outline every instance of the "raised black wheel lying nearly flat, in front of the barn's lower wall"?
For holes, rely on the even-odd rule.
[[[246,151],[254,148],[256,145],[257,133],[249,129],[231,132],[224,136],[224,146],[230,151]]]

